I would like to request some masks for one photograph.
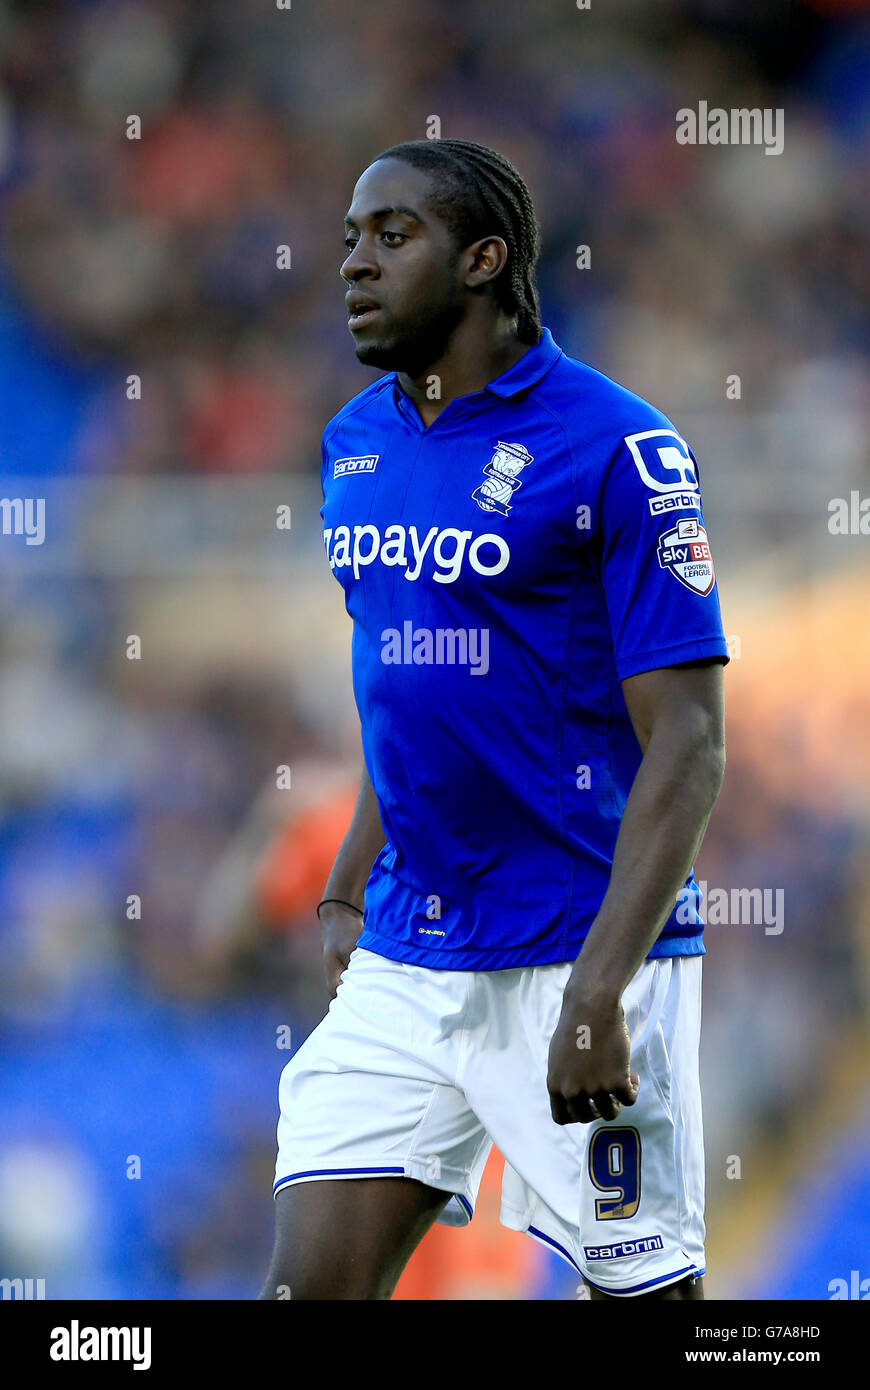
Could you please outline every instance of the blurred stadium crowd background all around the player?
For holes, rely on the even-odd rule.
[[[43,545],[0,537],[0,1275],[265,1270],[278,1042],[325,1005],[359,776],[317,518],[320,431],[371,379],[340,221],[435,114],[530,182],[556,339],[700,460],[735,659],[698,876],[784,892],[778,933],[707,929],[709,1295],[870,1276],[867,539],[828,528],[870,486],[869,8],[0,4],[0,486],[46,499]],[[781,107],[784,153],[677,145],[699,100]],[[495,1177],[403,1297],[575,1297]]]

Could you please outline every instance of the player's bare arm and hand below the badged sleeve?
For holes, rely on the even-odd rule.
[[[571,970],[550,1044],[548,1088],[557,1125],[614,1119],[623,1105],[634,1105],[638,1077],[630,1073],[623,991],[688,877],[724,771],[720,662],[645,671],[621,685],[643,758],[610,885]]]

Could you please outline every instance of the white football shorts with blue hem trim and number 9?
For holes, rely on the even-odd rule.
[[[292,1183],[416,1177],[464,1226],[495,1143],[500,1220],[609,1294],[705,1272],[700,956],[645,960],[623,995],[638,1099],[560,1126],[548,1054],[571,965],[431,970],[353,951],[279,1083],[275,1195]]]

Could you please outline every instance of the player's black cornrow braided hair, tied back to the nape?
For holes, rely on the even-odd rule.
[[[432,174],[429,203],[459,247],[500,236],[507,264],[495,279],[495,296],[517,321],[520,342],[541,338],[535,265],[541,250],[538,218],[528,188],[510,160],[474,140],[406,140],[378,160],[404,160]],[[377,160],[375,160],[377,163]]]

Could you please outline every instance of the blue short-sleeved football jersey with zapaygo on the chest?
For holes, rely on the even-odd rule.
[[[641,763],[620,681],[727,660],[688,445],[545,329],[428,428],[375,381],[324,431],[322,492],[388,841],[359,945],[575,959]],[[652,956],[703,952],[699,898],[689,876]]]

